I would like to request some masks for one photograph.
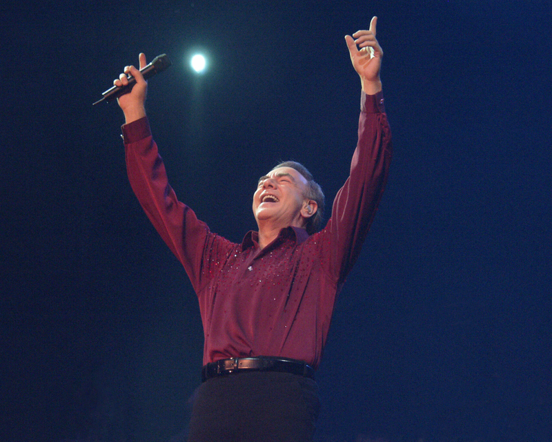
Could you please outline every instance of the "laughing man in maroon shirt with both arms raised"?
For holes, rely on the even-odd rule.
[[[144,110],[147,84],[133,66],[114,83],[137,79],[119,97],[132,189],[186,269],[204,326],[203,380],[190,441],[311,441],[319,410],[313,380],[342,289],[373,220],[391,161],[384,113],[382,48],[369,30],[346,36],[360,76],[362,112],[351,175],[322,231],[324,195],[295,162],[259,179],[253,195],[258,232],[241,244],[212,233],[179,202],[166,177]],[[358,46],[358,47],[357,47]],[[140,67],[146,57],[139,57]]]

